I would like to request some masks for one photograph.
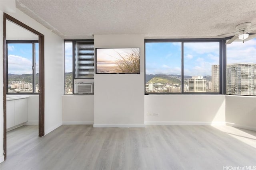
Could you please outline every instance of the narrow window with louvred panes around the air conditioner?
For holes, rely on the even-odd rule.
[[[93,82],[94,41],[65,40],[65,94],[74,94],[74,81]]]

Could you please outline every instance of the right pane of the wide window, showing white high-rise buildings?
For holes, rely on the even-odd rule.
[[[220,92],[219,42],[184,43],[184,92]]]

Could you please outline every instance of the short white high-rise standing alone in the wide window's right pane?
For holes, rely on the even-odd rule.
[[[206,78],[203,76],[192,76],[188,79],[189,92],[206,92]]]

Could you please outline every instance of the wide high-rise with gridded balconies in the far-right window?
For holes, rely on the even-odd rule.
[[[256,64],[227,64],[227,94],[256,95]]]

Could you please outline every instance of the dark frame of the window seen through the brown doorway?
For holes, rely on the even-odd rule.
[[[8,44],[32,44],[32,87],[33,92],[21,92],[21,93],[13,93],[8,92],[8,86],[6,86],[6,94],[11,95],[24,95],[24,94],[39,94],[36,92],[36,43],[39,45],[38,40],[6,40],[6,82],[8,83]]]

